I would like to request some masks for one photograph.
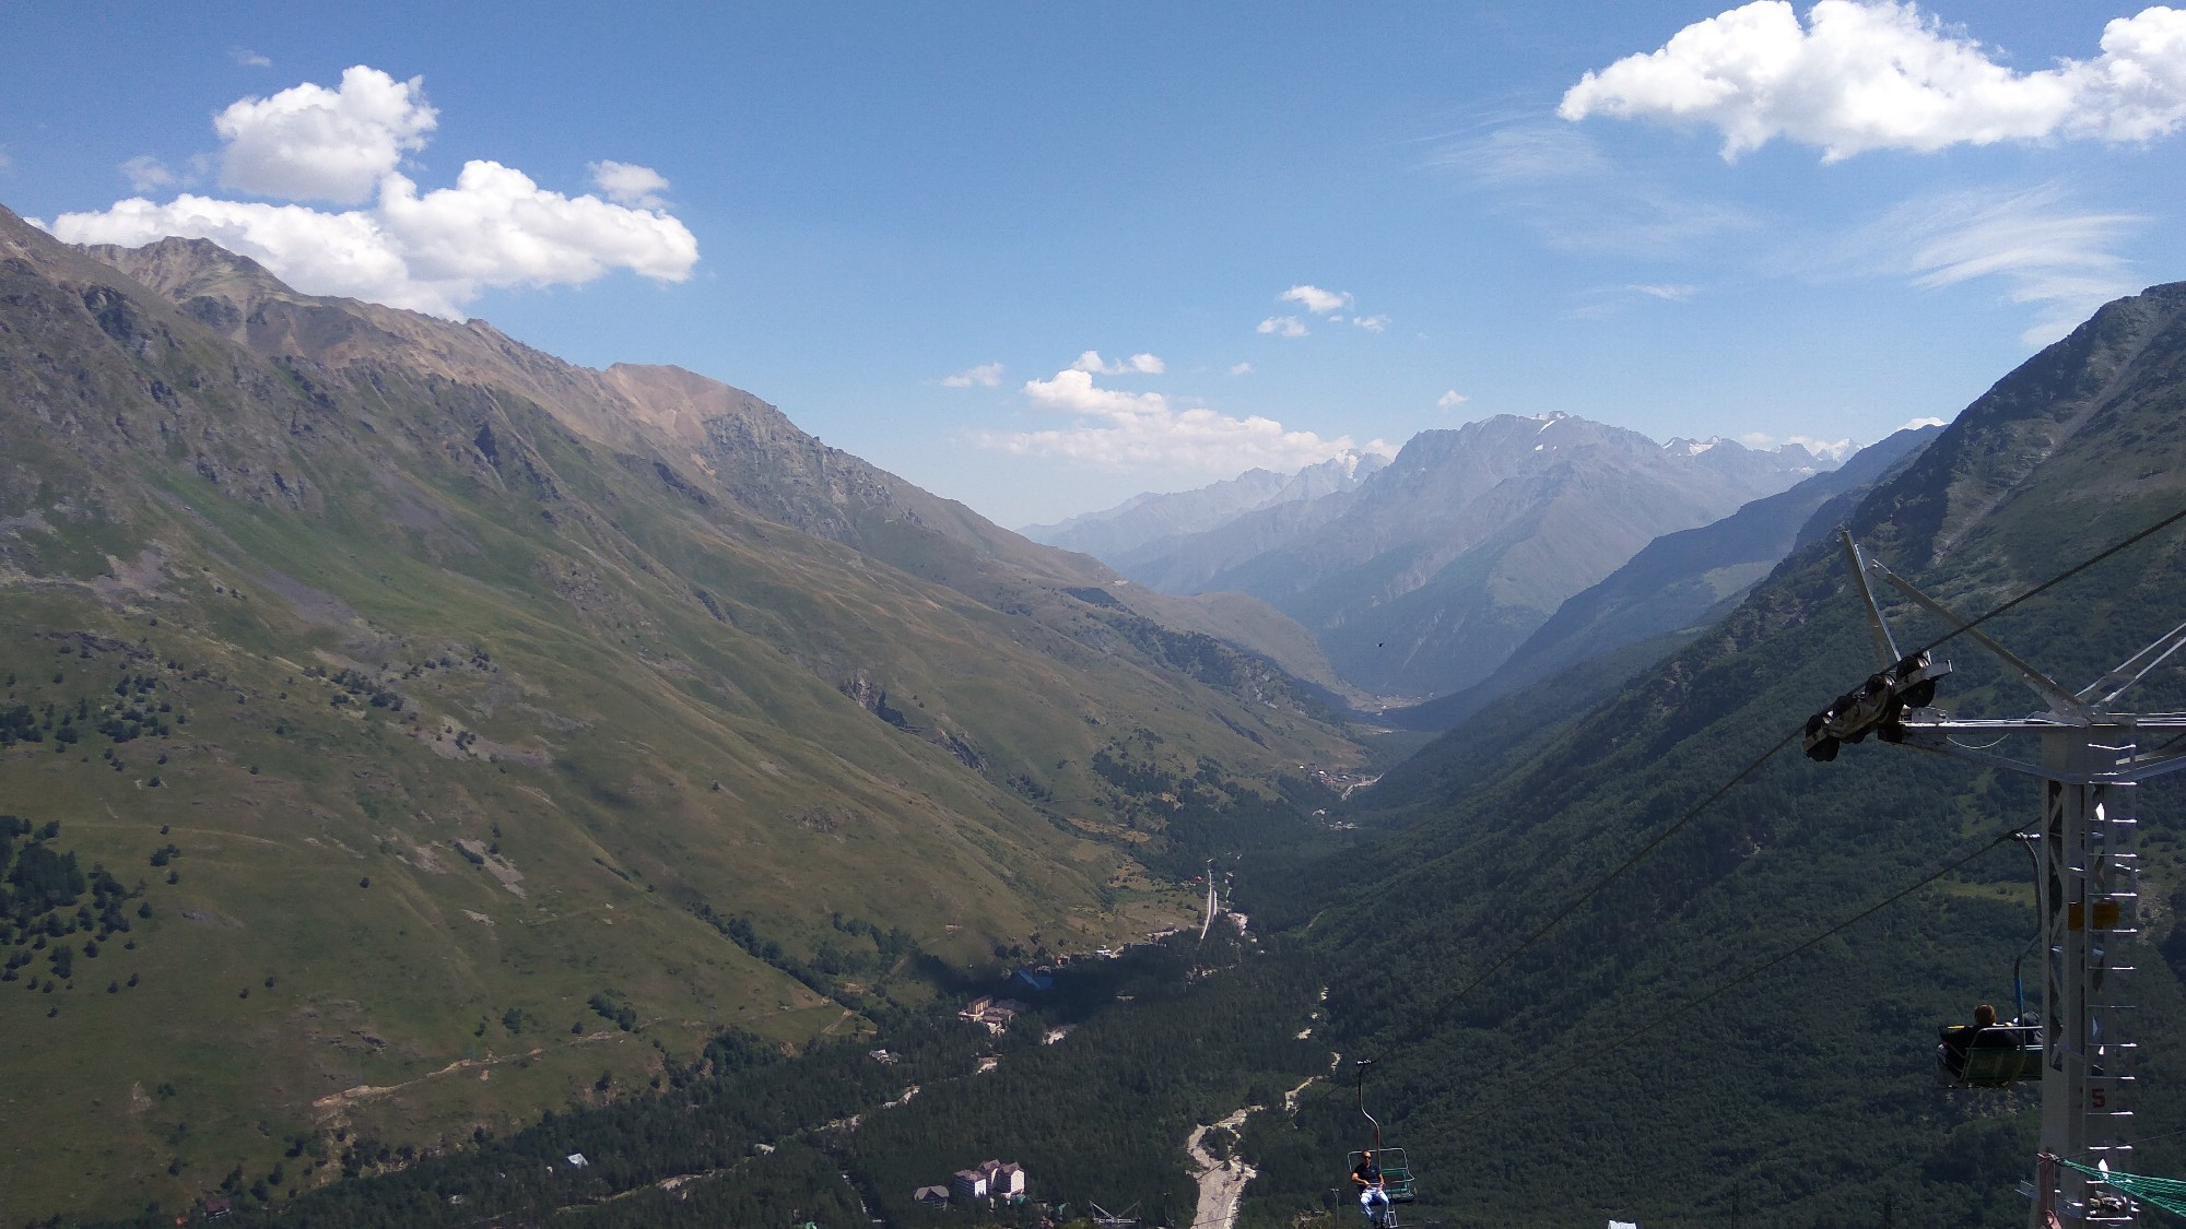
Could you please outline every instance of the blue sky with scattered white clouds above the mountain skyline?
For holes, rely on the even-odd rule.
[[[695,11],[693,11],[695,9]],[[13,4],[0,203],[675,363],[1003,525],[1493,413],[1873,442],[2186,280],[2186,9]]]

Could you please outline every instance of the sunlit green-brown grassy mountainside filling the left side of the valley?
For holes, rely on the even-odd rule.
[[[734,389],[103,256],[0,212],[0,814],[87,877],[0,910],[0,1220],[1143,929],[1165,807],[1115,763],[1274,796],[1351,754]]]

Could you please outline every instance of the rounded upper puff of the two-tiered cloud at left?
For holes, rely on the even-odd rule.
[[[341,87],[291,85],[271,98],[240,98],[212,118],[227,149],[221,184],[286,201],[354,206],[372,197],[402,155],[424,149],[439,112],[424,79],[396,81],[363,63]]]

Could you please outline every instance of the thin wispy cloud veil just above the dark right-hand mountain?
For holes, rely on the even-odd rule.
[[[2020,341],[2046,346],[2096,306],[2140,289],[2112,247],[2144,223],[2136,214],[2079,210],[2057,184],[2022,192],[1946,192],[1889,210],[1827,260],[1908,276],[1921,289],[2002,278],[2009,302],[2042,308]]]

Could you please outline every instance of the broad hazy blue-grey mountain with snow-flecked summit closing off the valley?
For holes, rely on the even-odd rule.
[[[1237,588],[1379,693],[1480,682],[1644,545],[1830,468],[1799,446],[1657,444],[1572,415],[1423,431],[1355,490],[1106,555],[1167,593]]]

